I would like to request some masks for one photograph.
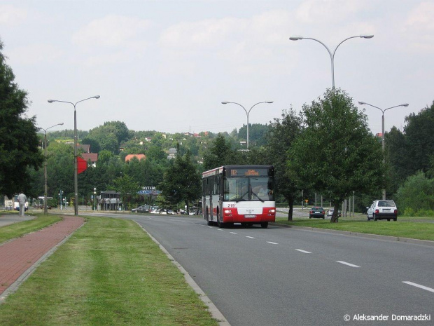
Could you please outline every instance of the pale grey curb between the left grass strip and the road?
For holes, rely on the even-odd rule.
[[[146,231],[146,229],[144,228],[144,226],[141,226],[139,224],[139,222],[137,222],[137,221],[134,221],[134,222],[136,222],[141,227],[141,229],[143,229],[148,234],[148,236],[153,240],[153,242],[155,242],[160,247],[160,249],[162,250],[162,252],[164,252],[166,254],[166,256],[169,258],[169,260],[179,269],[179,271],[181,271],[181,273],[183,273],[184,278],[186,278],[186,282],[188,283],[188,285],[190,285],[190,287],[192,287],[193,290],[197,294],[199,294],[200,299],[208,307],[208,310],[211,313],[212,317],[218,321],[218,325],[220,325],[220,326],[230,326],[230,323],[228,322],[228,320],[226,320],[226,318],[223,315],[223,313],[221,313],[221,311],[218,310],[218,308],[213,303],[213,301],[211,301],[211,299],[209,299],[209,297],[207,296],[207,294],[205,294],[205,292],[200,288],[200,286],[197,285],[197,283],[195,282],[195,280],[193,280],[193,278],[190,276],[190,274],[188,273],[188,271],[186,271],[183,268],[183,266],[181,266],[181,264],[179,264],[179,262],[176,262],[176,260],[172,256],[172,254],[169,254],[169,252],[166,250],[166,248],[163,247],[162,244],[159,243],[158,240],[155,239],[151,235],[151,233],[149,233],[148,231]]]

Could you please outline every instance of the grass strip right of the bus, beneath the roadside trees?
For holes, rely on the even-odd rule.
[[[381,236],[396,236],[400,238],[414,238],[419,240],[434,241],[434,223],[412,222],[414,217],[402,219],[398,217],[396,222],[367,221],[367,219],[339,218],[339,223],[330,223],[330,219],[294,219],[289,222],[287,218],[278,217],[276,223],[293,226],[307,226],[319,229],[332,229],[340,231],[351,231],[358,233],[379,234]],[[426,218],[423,218],[425,220]]]

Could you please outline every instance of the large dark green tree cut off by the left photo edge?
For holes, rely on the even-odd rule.
[[[27,118],[27,92],[14,82],[12,69],[1,53],[0,41],[0,193],[12,197],[29,184],[29,167],[38,170],[43,154],[38,149],[36,118]]]

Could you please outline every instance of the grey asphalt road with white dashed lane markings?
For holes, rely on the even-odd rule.
[[[402,315],[430,315],[418,325],[433,325],[434,247],[280,226],[218,229],[197,217],[125,218],[172,254],[232,326],[409,325]]]

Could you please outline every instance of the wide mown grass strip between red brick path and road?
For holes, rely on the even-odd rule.
[[[88,217],[0,305],[0,325],[218,325],[134,222]]]

